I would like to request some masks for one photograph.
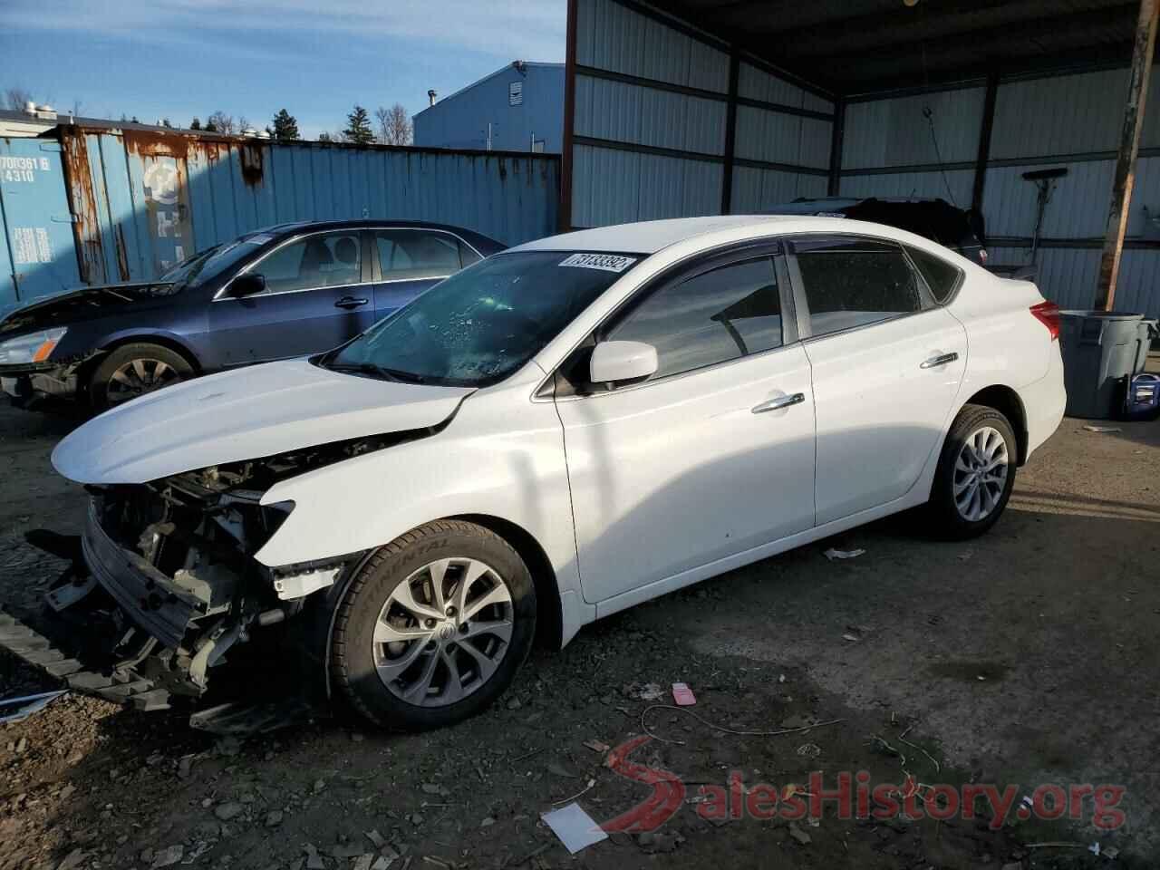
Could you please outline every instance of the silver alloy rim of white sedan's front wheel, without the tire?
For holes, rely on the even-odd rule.
[[[375,668],[396,697],[447,706],[484,686],[512,640],[512,592],[477,559],[429,563],[394,587],[375,623]]]

